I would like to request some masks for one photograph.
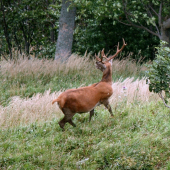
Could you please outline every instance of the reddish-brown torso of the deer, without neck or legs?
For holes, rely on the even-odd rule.
[[[108,86],[108,89],[105,89],[103,85],[95,84],[66,90],[58,97],[58,105],[61,109],[68,108],[73,113],[91,111],[101,100],[109,98],[112,94],[112,88]]]

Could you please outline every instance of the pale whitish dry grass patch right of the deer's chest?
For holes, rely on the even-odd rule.
[[[117,104],[130,104],[140,102],[142,104],[158,100],[158,95],[149,91],[149,85],[146,84],[145,78],[135,80],[127,78],[124,81],[119,80],[112,85],[113,95],[110,102],[113,107]]]

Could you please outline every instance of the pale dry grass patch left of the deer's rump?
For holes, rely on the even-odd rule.
[[[12,97],[8,106],[0,106],[0,127],[25,126],[61,117],[61,112],[51,104],[52,99],[59,94],[60,92],[50,94],[48,90],[31,98]]]

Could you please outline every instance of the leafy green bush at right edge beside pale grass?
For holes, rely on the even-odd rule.
[[[166,106],[170,98],[170,48],[166,42],[157,47],[156,59],[147,71],[149,90],[158,93]],[[163,96],[165,92],[165,97]]]

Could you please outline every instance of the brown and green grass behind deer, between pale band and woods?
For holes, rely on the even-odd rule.
[[[0,104],[7,105],[12,96],[32,97],[35,93],[77,88],[100,81],[101,72],[89,56],[72,55],[67,63],[53,60],[18,59],[0,62]],[[146,68],[129,59],[113,62],[113,80],[142,77]]]

